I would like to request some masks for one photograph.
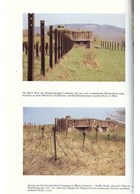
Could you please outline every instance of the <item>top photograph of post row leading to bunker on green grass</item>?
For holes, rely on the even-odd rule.
[[[23,14],[23,81],[125,81],[125,14]]]

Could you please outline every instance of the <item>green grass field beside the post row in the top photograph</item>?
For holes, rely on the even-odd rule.
[[[74,46],[49,68],[46,56],[46,76],[40,75],[40,57],[35,57],[35,80],[39,81],[125,81],[125,52]],[[27,55],[23,54],[23,80],[27,80]]]

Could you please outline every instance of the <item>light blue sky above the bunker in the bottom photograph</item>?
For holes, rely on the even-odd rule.
[[[50,108],[50,107],[24,107],[23,122],[32,124],[54,124],[55,118],[95,118],[106,119],[108,113],[118,108]]]

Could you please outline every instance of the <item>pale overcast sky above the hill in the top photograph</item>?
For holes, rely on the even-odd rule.
[[[125,28],[124,14],[35,14],[35,26],[40,25],[40,20],[45,20],[45,25],[55,24],[107,24]],[[28,14],[23,14],[23,28],[27,29]]]

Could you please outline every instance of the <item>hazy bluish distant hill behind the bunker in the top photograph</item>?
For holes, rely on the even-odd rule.
[[[56,28],[57,25],[54,25]],[[99,24],[64,24],[64,27],[67,29],[81,29],[81,30],[89,30],[94,32],[95,36],[103,40],[109,41],[121,41],[125,39],[125,29],[119,28],[112,25],[99,25]],[[46,27],[46,32],[48,31],[48,27]],[[35,34],[40,33],[40,27],[35,27]],[[27,36],[27,29],[23,30],[23,35]]]

